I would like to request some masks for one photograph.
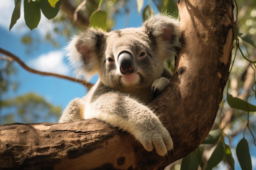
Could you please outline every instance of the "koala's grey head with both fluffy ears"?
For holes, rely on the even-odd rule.
[[[79,76],[95,73],[104,85],[143,88],[161,77],[164,62],[176,53],[179,22],[155,15],[139,28],[109,33],[87,28],[67,46],[71,65]]]

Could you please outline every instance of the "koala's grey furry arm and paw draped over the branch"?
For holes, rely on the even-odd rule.
[[[167,155],[168,151],[173,153],[172,139],[158,117],[147,106],[124,93],[112,91],[101,95],[90,103],[90,113],[85,114],[91,113],[94,118],[130,132],[148,151],[155,148],[161,156]]]

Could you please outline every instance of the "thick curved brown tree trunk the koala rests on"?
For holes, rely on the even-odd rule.
[[[180,159],[207,136],[229,75],[233,48],[232,0],[180,0],[180,40],[175,73],[165,93],[150,103],[174,142],[166,160],[101,121],[11,124],[0,127],[0,169],[159,169]]]

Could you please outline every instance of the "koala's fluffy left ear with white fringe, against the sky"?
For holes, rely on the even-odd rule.
[[[100,71],[100,52],[106,43],[106,33],[101,30],[87,28],[80,35],[75,35],[67,45],[68,59],[75,74],[90,79]]]

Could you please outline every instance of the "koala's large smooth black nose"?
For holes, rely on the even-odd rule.
[[[131,53],[126,51],[120,53],[117,61],[122,75],[127,75],[134,72],[135,66],[133,63],[133,57]]]

